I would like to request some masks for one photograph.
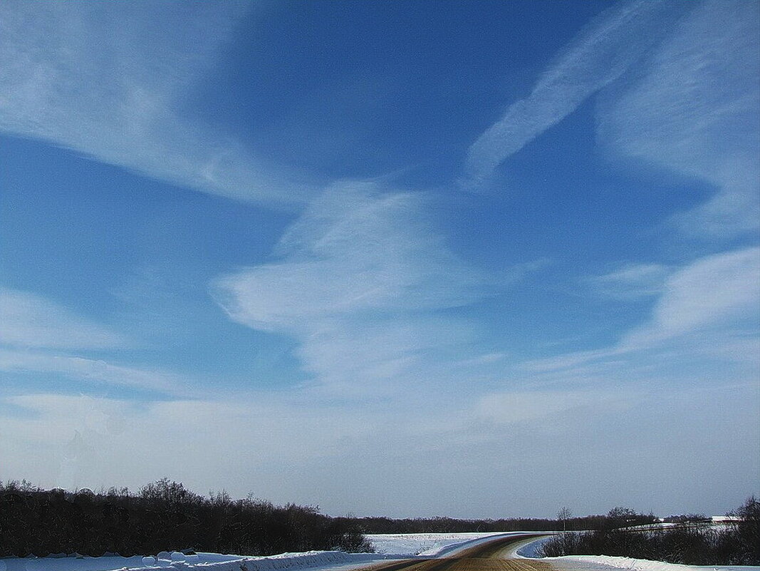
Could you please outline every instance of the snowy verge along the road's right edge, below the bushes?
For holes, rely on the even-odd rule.
[[[538,557],[538,548],[548,539],[543,538],[521,545],[516,548],[512,555],[535,559]],[[662,561],[612,557],[610,555],[566,555],[565,557],[543,557],[541,560],[549,561],[553,566],[567,571],[581,571],[581,569],[582,571],[610,571],[610,569],[629,569],[629,571],[749,571],[749,569],[760,569],[760,566],[750,565],[676,565]]]

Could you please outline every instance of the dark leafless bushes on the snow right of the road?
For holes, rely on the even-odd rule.
[[[543,544],[545,557],[616,555],[687,565],[760,565],[760,501],[750,497],[729,515],[734,521],[710,525],[704,515],[668,518],[669,528],[629,528],[628,518],[610,518],[594,531],[556,535]],[[635,524],[634,524],[635,525]],[[578,529],[578,528],[576,528]]]

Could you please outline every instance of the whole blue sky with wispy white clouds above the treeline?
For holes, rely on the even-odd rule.
[[[0,479],[760,495],[760,4],[0,4]]]

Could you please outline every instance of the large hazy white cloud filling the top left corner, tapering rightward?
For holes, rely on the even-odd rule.
[[[182,116],[240,2],[0,5],[0,131],[203,192],[274,205],[306,186]]]

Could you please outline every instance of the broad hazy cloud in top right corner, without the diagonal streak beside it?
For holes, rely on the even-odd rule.
[[[616,153],[717,188],[679,217],[692,233],[734,236],[760,223],[760,5],[704,2],[635,81],[602,97],[600,141]]]

